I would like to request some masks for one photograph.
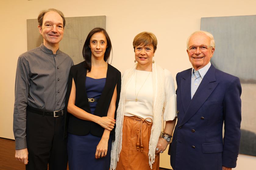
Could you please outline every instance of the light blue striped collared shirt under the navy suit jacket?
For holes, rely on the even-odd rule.
[[[205,74],[209,70],[211,66],[211,62],[206,64],[203,68],[197,70],[199,73],[195,73],[195,69],[192,68],[192,73],[191,73],[191,99],[193,98],[194,94],[197,91],[197,88],[199,87],[201,81],[203,80]],[[198,75],[198,76],[196,76]]]

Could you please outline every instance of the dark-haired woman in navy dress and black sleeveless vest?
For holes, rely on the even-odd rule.
[[[70,170],[109,169],[121,86],[121,73],[108,64],[111,49],[105,29],[94,28],[84,43],[84,62],[70,69],[66,95]]]

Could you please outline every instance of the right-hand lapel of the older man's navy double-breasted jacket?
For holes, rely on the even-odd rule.
[[[194,94],[192,100],[189,100],[190,103],[188,104],[185,115],[181,123],[179,124],[179,126],[182,126],[184,123],[186,123],[200,109],[200,107],[204,104],[205,100],[208,99],[208,97],[212,94],[215,87],[219,84],[219,82],[216,82],[215,70],[216,70],[215,67],[211,65],[211,67],[205,74],[202,82],[200,83],[196,93]],[[191,82],[191,77],[190,77],[190,82]],[[191,93],[191,86],[187,88]],[[187,94],[187,97],[186,97],[187,100],[188,100],[188,97],[191,98],[190,93]]]

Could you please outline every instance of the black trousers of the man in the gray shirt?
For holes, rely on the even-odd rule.
[[[64,134],[64,116],[40,115],[27,110],[26,170],[66,170],[67,139]]]

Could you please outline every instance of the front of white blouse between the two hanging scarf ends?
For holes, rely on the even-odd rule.
[[[143,119],[150,117],[153,120],[152,72],[141,70],[136,70],[136,72],[127,85],[124,115]],[[135,101],[136,97],[137,101]]]

